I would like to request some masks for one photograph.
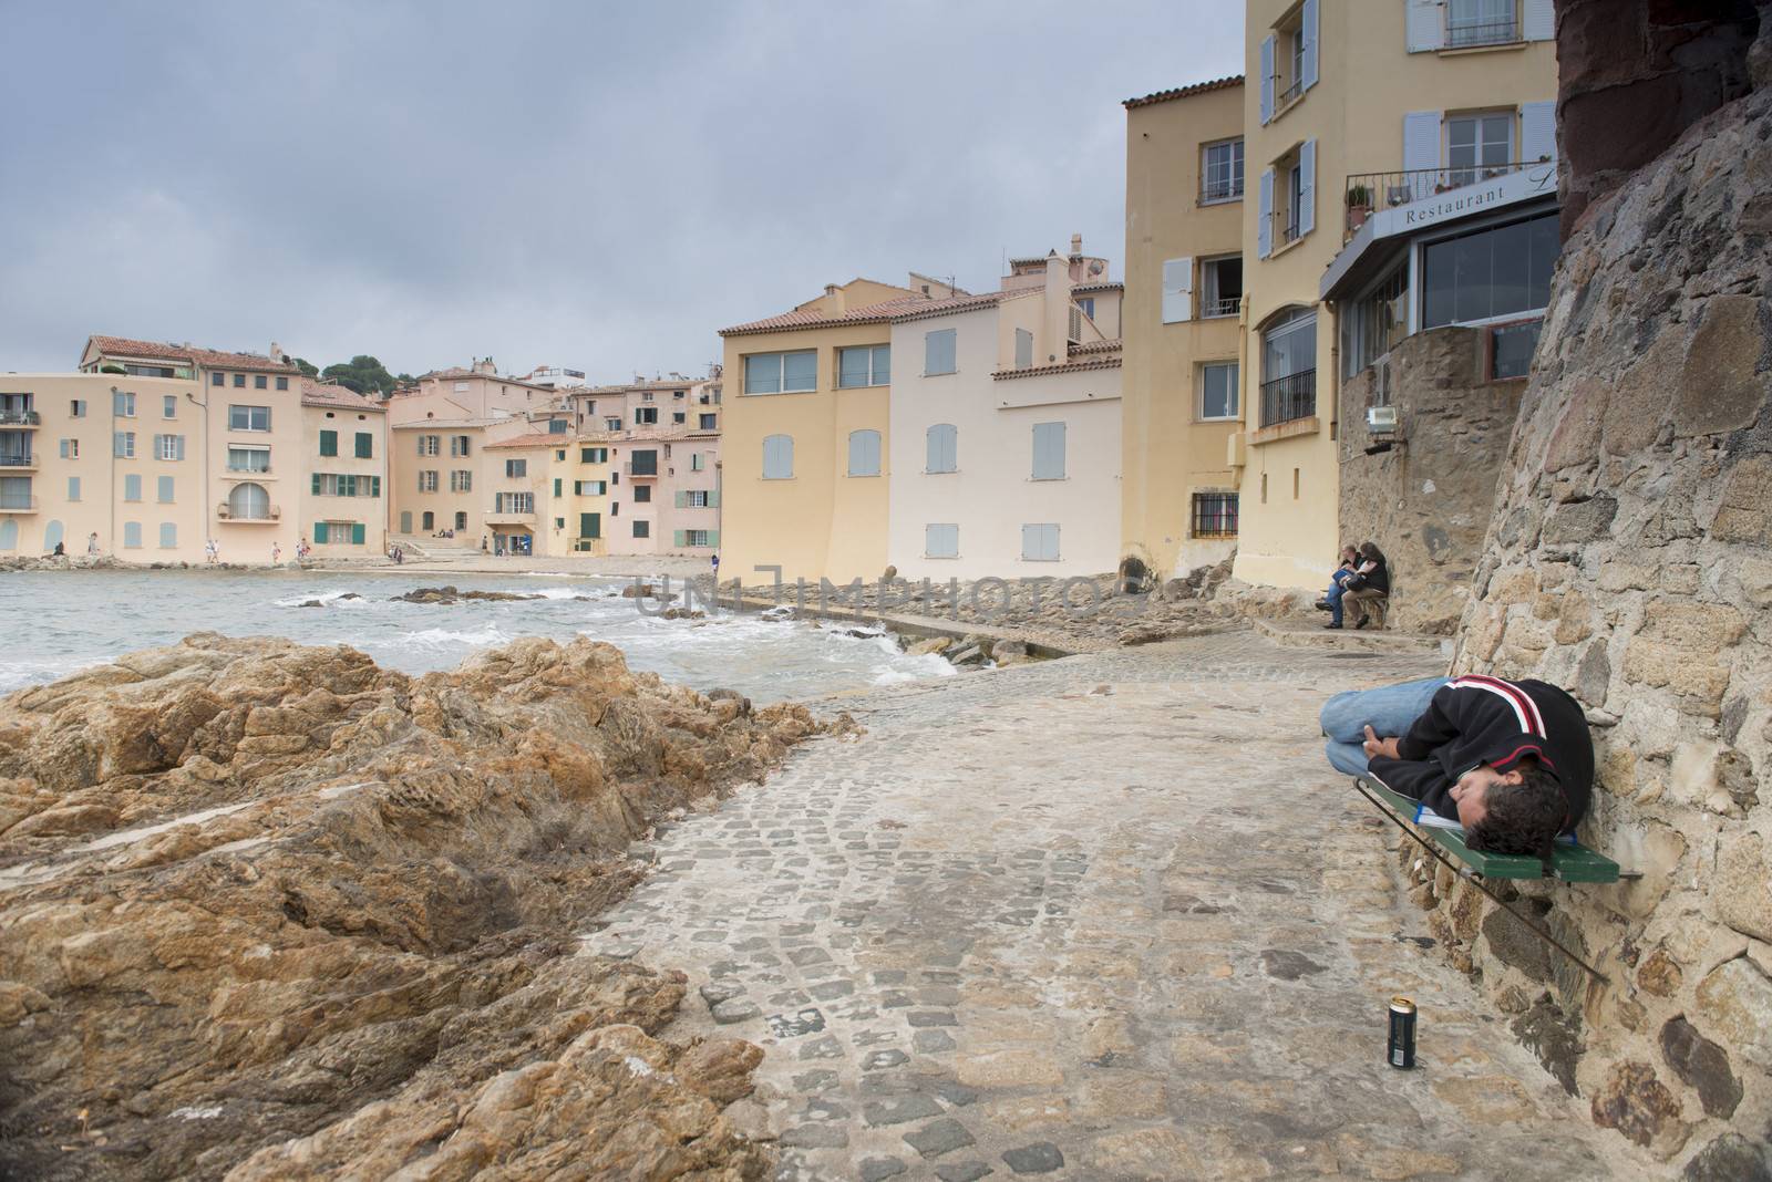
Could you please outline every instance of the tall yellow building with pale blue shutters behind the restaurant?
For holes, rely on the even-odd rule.
[[[1244,87],[1235,573],[1320,587],[1341,541],[1340,326],[1318,297],[1324,271],[1373,207],[1556,154],[1552,4],[1249,0],[1244,44],[1256,81]]]

